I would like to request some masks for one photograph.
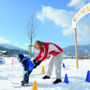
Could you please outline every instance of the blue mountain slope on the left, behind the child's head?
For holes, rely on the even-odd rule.
[[[16,46],[9,45],[9,44],[0,44],[0,50],[1,51],[8,51],[11,56],[15,56],[15,55],[18,55],[20,53],[28,54],[27,50],[24,50],[22,48],[18,48]]]

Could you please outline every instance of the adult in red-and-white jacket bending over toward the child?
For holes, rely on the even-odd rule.
[[[49,79],[52,71],[53,66],[55,64],[55,71],[56,71],[56,80],[53,82],[54,84],[57,84],[61,82],[61,63],[62,63],[62,48],[60,48],[58,45],[49,43],[49,42],[41,42],[36,41],[34,43],[34,47],[37,50],[40,50],[38,56],[33,60],[34,62],[34,68],[36,68],[41,62],[43,62],[48,55],[52,55],[52,58],[50,59],[47,75],[43,77],[43,79]]]

